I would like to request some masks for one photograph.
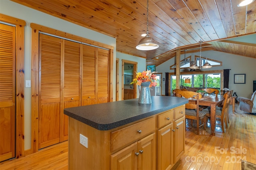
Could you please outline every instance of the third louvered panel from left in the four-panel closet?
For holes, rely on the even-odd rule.
[[[82,106],[95,104],[96,47],[82,45]]]

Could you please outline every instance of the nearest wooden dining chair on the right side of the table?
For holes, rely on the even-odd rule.
[[[227,113],[228,113],[228,106],[230,103],[230,93],[226,92],[224,94],[224,104],[222,109],[216,109],[215,110],[215,115],[216,115],[216,120],[220,121],[220,124],[216,123],[216,125],[221,125],[222,132],[225,133],[225,128],[228,128],[228,122],[227,122]],[[211,115],[211,107],[207,107],[206,109],[203,109],[202,111],[206,112],[206,117],[210,117]]]

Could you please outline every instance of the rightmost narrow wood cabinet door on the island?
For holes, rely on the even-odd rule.
[[[185,152],[185,116],[174,121],[174,162]]]

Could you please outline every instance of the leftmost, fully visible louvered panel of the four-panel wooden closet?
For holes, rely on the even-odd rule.
[[[60,142],[61,39],[40,34],[39,149]]]

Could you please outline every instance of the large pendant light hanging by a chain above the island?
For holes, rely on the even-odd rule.
[[[146,36],[142,38],[138,43],[138,45],[136,46],[136,49],[147,51],[147,50],[157,49],[158,47],[159,45],[156,43],[156,41],[148,35],[148,1],[147,1],[147,32],[146,32]]]

